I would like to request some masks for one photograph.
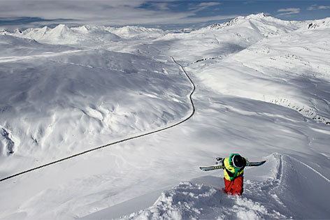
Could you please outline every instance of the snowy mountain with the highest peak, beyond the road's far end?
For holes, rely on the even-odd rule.
[[[261,13],[236,17],[230,22],[213,24],[190,33],[166,34],[156,40],[160,41],[159,44],[152,45],[157,45],[159,50],[171,50],[171,54],[180,58],[184,64],[206,59],[217,61],[244,50],[267,36],[286,34],[299,29],[303,24],[305,22],[282,21]]]

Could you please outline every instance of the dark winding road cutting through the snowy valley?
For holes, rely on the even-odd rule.
[[[189,119],[194,115],[194,113],[195,113],[195,105],[194,105],[194,102],[192,101],[192,95],[194,94],[194,91],[195,91],[196,87],[195,87],[195,85],[194,85],[194,82],[192,82],[192,79],[189,77],[188,73],[185,71],[185,68],[183,68],[183,66],[182,66],[181,64],[179,64],[177,61],[175,61],[175,59],[174,59],[173,57],[171,57],[171,59],[173,59],[173,61],[175,62],[175,64],[178,64],[178,66],[180,66],[180,68],[182,69],[183,73],[185,73],[185,76],[187,77],[187,79],[189,80],[189,82],[190,82],[191,85],[192,85],[192,91],[190,91],[190,94],[189,94],[189,101],[190,101],[190,104],[191,104],[191,107],[192,107],[192,111],[190,112],[190,114],[189,114],[185,119],[182,119],[182,121],[180,121],[180,122],[176,122],[175,124],[172,124],[171,126],[166,126],[166,127],[162,128],[162,129],[157,129],[157,130],[155,130],[155,131],[150,131],[150,132],[147,132],[147,133],[143,133],[143,134],[141,134],[141,135],[136,135],[136,136],[133,136],[133,137],[131,137],[131,138],[124,138],[124,139],[122,139],[122,140],[118,140],[118,141],[115,141],[115,142],[110,142],[110,143],[107,144],[107,145],[102,145],[102,146],[100,146],[100,147],[95,147],[95,148],[92,148],[92,149],[88,149],[88,150],[86,150],[85,152],[80,152],[80,153],[78,153],[78,154],[73,154],[73,155],[71,155],[71,156],[64,157],[64,158],[59,159],[59,160],[57,160],[57,161],[52,161],[52,162],[50,162],[50,163],[45,163],[45,164],[43,164],[43,165],[41,165],[41,166],[37,166],[37,167],[35,167],[35,168],[31,168],[31,169],[29,169],[29,170],[24,170],[24,171],[22,171],[22,172],[20,172],[20,173],[16,173],[16,174],[14,174],[14,175],[10,175],[10,176],[8,176],[8,177],[4,177],[3,179],[0,179],[0,182],[4,181],[4,180],[6,180],[6,179],[11,179],[11,178],[13,178],[13,177],[17,177],[17,176],[23,175],[24,173],[29,173],[29,172],[31,172],[31,171],[34,171],[34,170],[38,170],[38,169],[44,168],[44,167],[46,167],[46,166],[50,166],[50,165],[55,164],[55,163],[59,163],[59,162],[62,162],[62,161],[66,161],[66,160],[72,159],[73,157],[80,156],[80,155],[82,155],[82,154],[87,154],[87,153],[89,153],[89,152],[96,151],[96,150],[101,149],[101,148],[103,148],[103,147],[108,147],[108,146],[110,146],[110,145],[115,145],[115,144],[118,144],[118,143],[120,143],[120,142],[125,142],[125,141],[127,141],[127,140],[132,140],[132,139],[136,139],[136,138],[141,138],[141,137],[143,137],[143,136],[150,135],[150,134],[152,134],[152,133],[158,133],[158,132],[160,132],[160,131],[164,131],[164,130],[167,130],[167,129],[171,129],[171,128],[173,128],[174,126],[178,126],[179,124],[182,124],[183,122],[186,122],[187,120],[189,120]]]

